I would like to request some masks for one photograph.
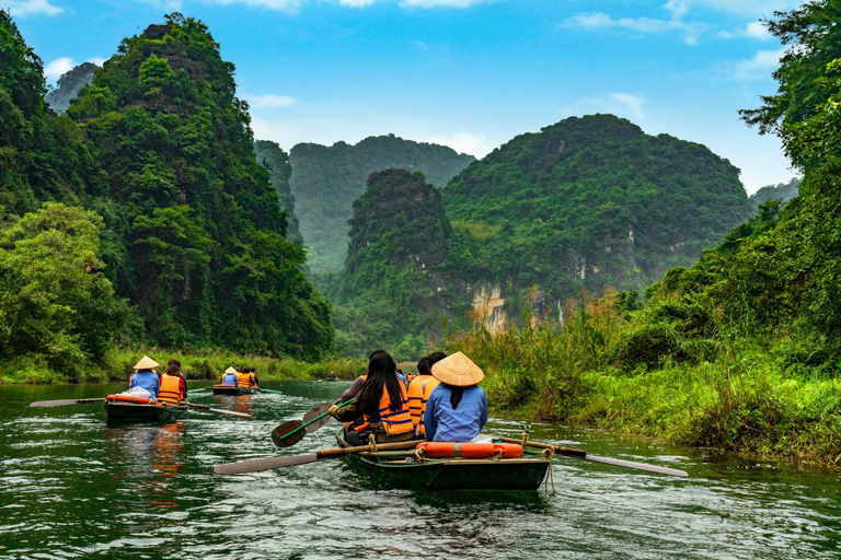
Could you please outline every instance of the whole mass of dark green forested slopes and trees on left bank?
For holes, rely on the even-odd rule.
[[[82,380],[115,343],[330,348],[329,303],[285,237],[233,71],[203,23],[172,14],[57,117],[41,59],[0,11],[4,378]]]

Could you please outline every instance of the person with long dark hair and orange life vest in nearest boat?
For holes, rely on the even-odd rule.
[[[333,405],[330,415],[345,422],[345,441],[364,445],[371,434],[378,442],[402,442],[415,435],[408,413],[406,387],[395,375],[394,360],[384,350],[371,353],[368,374],[349,405]]]

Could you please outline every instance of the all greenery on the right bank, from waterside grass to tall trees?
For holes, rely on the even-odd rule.
[[[841,2],[767,21],[787,45],[779,90],[741,112],[777,135],[799,196],[627,293],[568,303],[538,325],[451,340],[484,365],[498,409],[675,442],[841,462]]]

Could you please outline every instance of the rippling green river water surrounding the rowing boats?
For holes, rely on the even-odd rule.
[[[555,459],[554,493],[382,489],[338,459],[215,476],[220,463],[335,446],[335,422],[287,450],[269,432],[346,383],[266,386],[284,395],[191,397],[253,419],[192,411],[162,425],[110,423],[99,404],[26,407],[123,386],[1,386],[0,558],[841,558],[838,472],[554,424],[529,423],[532,440],[691,478],[572,458]]]

